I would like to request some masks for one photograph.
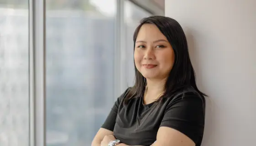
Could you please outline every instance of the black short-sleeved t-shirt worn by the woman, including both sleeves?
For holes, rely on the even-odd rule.
[[[163,102],[143,104],[143,97],[123,103],[129,88],[117,99],[107,120],[101,126],[113,131],[121,142],[130,145],[150,146],[156,141],[160,126],[180,131],[201,146],[204,131],[204,99],[197,94],[165,97]]]

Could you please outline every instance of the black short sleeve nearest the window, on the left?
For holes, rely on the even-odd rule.
[[[116,102],[114,103],[112,109],[110,110],[107,119],[105,120],[105,122],[103,123],[103,125],[101,126],[101,128],[105,128],[107,130],[114,130],[114,126],[116,124],[116,118],[117,118],[117,112],[118,112],[118,107],[121,104],[121,102],[123,101],[123,98],[126,96],[126,94],[128,93],[128,89],[125,90],[125,92],[117,98]]]

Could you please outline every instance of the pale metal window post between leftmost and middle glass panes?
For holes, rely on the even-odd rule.
[[[45,0],[29,0],[30,146],[45,146]]]

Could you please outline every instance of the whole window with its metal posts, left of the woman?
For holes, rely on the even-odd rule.
[[[91,145],[133,85],[133,31],[151,14],[130,1],[0,0],[0,146]]]

